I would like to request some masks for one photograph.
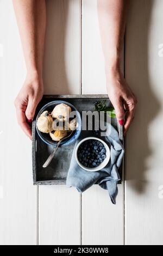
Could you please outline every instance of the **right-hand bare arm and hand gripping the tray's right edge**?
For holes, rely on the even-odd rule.
[[[124,133],[134,118],[136,97],[120,70],[127,0],[97,0],[99,26],[105,58],[106,87]],[[127,111],[126,115],[124,110]]]

